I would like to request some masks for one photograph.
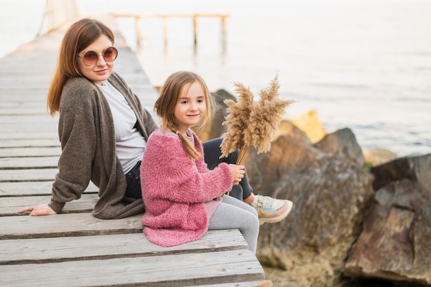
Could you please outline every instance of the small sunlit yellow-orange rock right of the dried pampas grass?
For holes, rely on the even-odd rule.
[[[298,117],[293,117],[289,121],[304,131],[312,143],[316,143],[326,135],[326,130],[317,117],[317,110],[311,110]]]

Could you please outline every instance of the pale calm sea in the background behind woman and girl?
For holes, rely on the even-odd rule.
[[[31,41],[45,1],[3,0],[0,57]],[[7,5],[6,5],[7,4]],[[431,1],[80,1],[83,13],[223,13],[198,19],[193,49],[191,19],[119,21],[149,79],[160,86],[176,70],[193,70],[211,91],[235,93],[233,82],[256,98],[279,75],[280,95],[298,102],[286,118],[317,110],[327,132],[351,128],[362,148],[404,155],[431,152]]]

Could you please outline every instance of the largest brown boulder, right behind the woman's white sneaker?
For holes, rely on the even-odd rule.
[[[293,201],[286,219],[261,226],[257,257],[284,270],[269,279],[276,286],[333,286],[373,195],[370,172],[297,131],[278,137],[266,154],[250,152],[246,168],[256,194]]]

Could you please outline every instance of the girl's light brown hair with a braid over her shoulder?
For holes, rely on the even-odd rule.
[[[187,154],[192,159],[199,159],[202,155],[181,132],[178,132],[178,121],[174,116],[174,112],[176,104],[180,100],[182,89],[188,88],[196,81],[202,87],[205,106],[207,107],[204,118],[196,126],[193,126],[193,130],[199,135],[203,131],[205,124],[213,118],[213,97],[208,90],[207,84],[198,74],[188,71],[174,72],[163,83],[162,88],[160,88],[160,97],[154,104],[154,110],[162,120],[162,129],[170,128],[172,132],[176,132],[182,141],[182,146],[184,146]]]

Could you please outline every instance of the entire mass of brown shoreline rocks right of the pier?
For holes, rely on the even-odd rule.
[[[202,140],[220,137],[218,110]],[[245,166],[256,194],[290,199],[261,226],[257,257],[275,286],[431,286],[431,154],[364,151],[349,128],[326,134],[310,112],[283,121],[271,150]]]

